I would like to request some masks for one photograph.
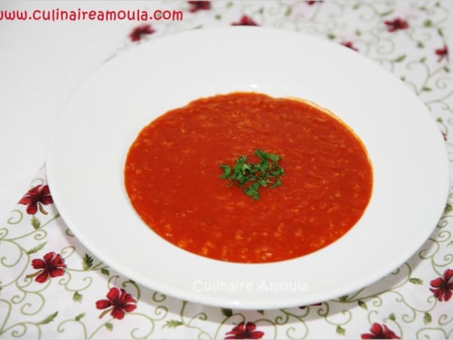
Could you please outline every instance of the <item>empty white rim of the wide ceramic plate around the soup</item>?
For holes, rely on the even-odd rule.
[[[169,109],[231,91],[312,100],[362,138],[374,192],[344,237],[291,261],[238,264],[185,252],[141,222],[123,187],[139,130]],[[250,27],[175,34],[102,66],[59,117],[47,176],[72,232],[112,268],[184,300],[243,309],[320,302],[384,277],[427,240],[449,189],[440,131],[399,79],[340,45]]]

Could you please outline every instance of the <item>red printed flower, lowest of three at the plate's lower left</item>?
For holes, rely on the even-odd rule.
[[[97,309],[106,309],[102,311],[99,318],[102,318],[107,314],[109,311],[111,316],[114,318],[121,320],[124,318],[125,312],[133,311],[137,308],[136,305],[137,301],[132,298],[132,295],[126,293],[124,289],[121,291],[118,288],[110,288],[109,293],[107,293],[107,300],[98,300],[96,301],[96,308]]]

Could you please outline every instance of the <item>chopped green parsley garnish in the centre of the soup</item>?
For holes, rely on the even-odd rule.
[[[284,176],[284,169],[277,164],[282,157],[260,149],[256,149],[254,154],[261,160],[257,164],[247,162],[247,156],[240,156],[233,169],[227,164],[220,165],[224,171],[220,178],[230,180],[230,186],[237,183],[243,187],[244,194],[257,200],[260,187],[272,189],[282,185],[280,176]]]

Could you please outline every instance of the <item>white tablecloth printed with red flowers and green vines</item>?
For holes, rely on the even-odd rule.
[[[139,3],[147,10],[183,10],[184,20],[136,23],[118,37],[118,50],[106,61],[186,29],[240,24],[299,31],[354,49],[401,78],[431,111],[451,154],[445,27],[453,17],[447,1]],[[452,195],[429,240],[387,277],[335,300],[257,311],[177,300],[98,261],[56,211],[45,166],[18,199],[0,224],[0,337],[6,339],[453,337]]]

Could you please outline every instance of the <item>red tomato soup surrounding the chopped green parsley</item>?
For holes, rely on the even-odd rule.
[[[221,179],[256,149],[281,156],[281,185],[252,199]],[[141,219],[182,249],[222,261],[265,263],[338,240],[364,213],[373,186],[367,150],[334,115],[259,93],[201,98],[144,127],[125,162]]]

